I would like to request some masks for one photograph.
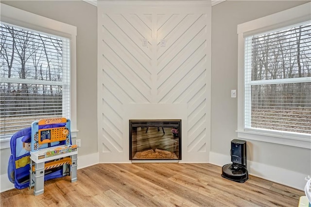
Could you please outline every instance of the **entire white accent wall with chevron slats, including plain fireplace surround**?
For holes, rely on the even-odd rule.
[[[208,162],[211,6],[155,3],[98,5],[100,162],[130,162],[130,119],[181,119],[181,162]]]

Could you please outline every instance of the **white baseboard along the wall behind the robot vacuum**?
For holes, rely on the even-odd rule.
[[[209,153],[209,163],[223,166],[231,163],[230,155],[223,155],[215,152]],[[308,175],[278,168],[247,160],[247,170],[250,175],[286,185],[298,190],[304,190],[306,185],[305,177]],[[281,173],[280,173],[281,172]]]

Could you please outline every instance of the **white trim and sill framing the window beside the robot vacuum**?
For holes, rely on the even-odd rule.
[[[311,2],[238,25],[238,138],[311,149],[311,135],[245,129],[244,37],[311,20]]]

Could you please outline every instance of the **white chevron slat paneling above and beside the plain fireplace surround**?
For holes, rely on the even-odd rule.
[[[100,153],[124,152],[123,105],[129,103],[188,104],[184,149],[206,152],[207,14],[168,9],[99,13]],[[148,44],[143,47],[144,38]]]

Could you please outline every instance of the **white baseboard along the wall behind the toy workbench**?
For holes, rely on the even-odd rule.
[[[89,154],[89,155],[78,155],[78,170],[86,168],[99,163],[99,153]],[[79,179],[79,177],[78,177]],[[14,184],[9,181],[8,174],[0,175],[0,192],[14,189]]]

